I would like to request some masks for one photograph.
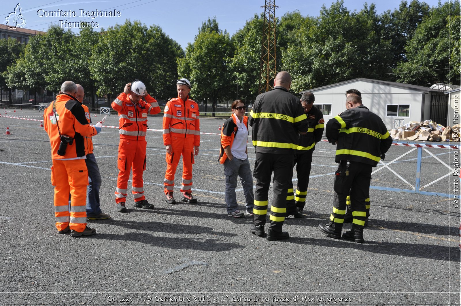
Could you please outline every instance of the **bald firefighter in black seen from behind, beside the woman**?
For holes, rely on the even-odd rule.
[[[293,177],[295,149],[298,147],[298,132],[307,132],[307,118],[299,99],[290,94],[291,76],[280,71],[271,91],[260,94],[254,101],[248,123],[253,127],[252,138],[256,152],[254,175],[253,225],[251,232],[264,236],[268,192],[274,172],[274,197],[271,206],[271,225],[267,240],[287,239],[282,232],[286,214],[286,196]]]

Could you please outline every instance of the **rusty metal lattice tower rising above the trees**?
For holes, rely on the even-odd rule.
[[[276,40],[275,40],[275,0],[266,0],[264,7],[264,21],[262,26],[261,60],[259,93],[271,90],[274,87],[274,78],[277,73]]]

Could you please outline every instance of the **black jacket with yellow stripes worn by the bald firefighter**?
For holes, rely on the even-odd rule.
[[[258,153],[294,154],[298,130],[307,131],[299,98],[282,86],[256,97],[248,124],[253,127],[253,146]]]

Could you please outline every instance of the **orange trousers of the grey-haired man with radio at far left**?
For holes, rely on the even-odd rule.
[[[88,170],[83,159],[53,159],[51,184],[54,186],[56,228],[82,232],[86,227],[86,191]],[[69,194],[71,207],[69,209]]]

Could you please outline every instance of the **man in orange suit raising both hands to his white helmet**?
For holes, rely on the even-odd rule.
[[[147,103],[142,100],[146,99]],[[145,196],[142,181],[142,171],[146,170],[146,132],[147,115],[160,112],[157,100],[146,90],[146,85],[139,80],[125,85],[123,93],[112,102],[112,108],[118,112],[118,179],[115,189],[115,202],[118,212],[126,212],[125,201],[128,179],[133,169],[131,192],[135,199],[135,207],[153,209]]]

